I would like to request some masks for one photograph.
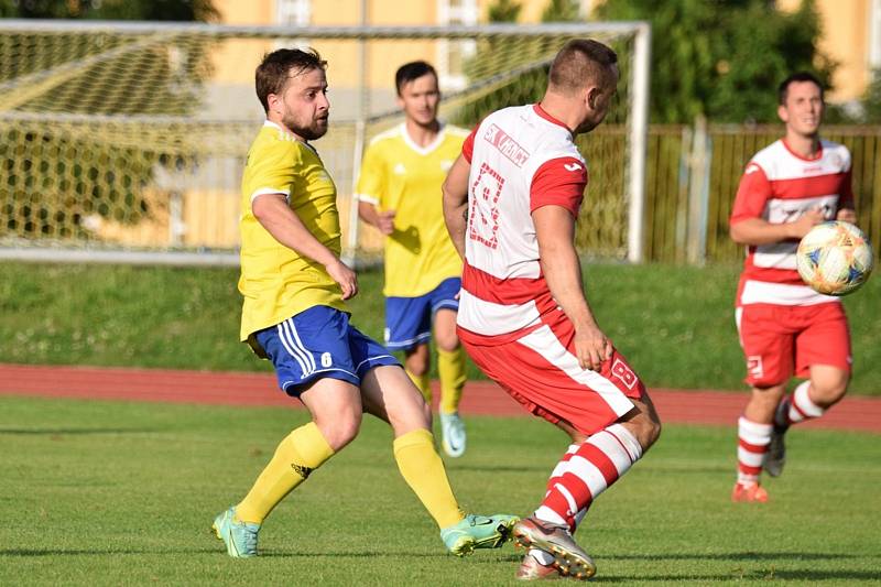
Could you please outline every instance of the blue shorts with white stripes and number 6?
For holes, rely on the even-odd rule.
[[[401,365],[389,350],[349,324],[349,315],[314,306],[257,333],[257,341],[275,367],[279,387],[298,396],[329,377],[361,385],[361,378],[381,365]]]

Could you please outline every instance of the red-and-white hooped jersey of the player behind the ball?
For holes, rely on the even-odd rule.
[[[793,153],[781,139],[759,151],[747,165],[730,224],[748,218],[791,222],[813,208],[822,208],[831,220],[840,208],[852,207],[850,152],[845,145],[820,141],[819,153],[808,160]],[[795,269],[797,248],[797,239],[748,247],[737,305],[812,305],[836,301],[802,282]]]

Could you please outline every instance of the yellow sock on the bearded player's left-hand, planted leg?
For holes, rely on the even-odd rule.
[[[253,524],[263,523],[269,512],[309,474],[334,456],[314,422],[296,428],[279,444],[254,486],[236,506],[236,518]]]

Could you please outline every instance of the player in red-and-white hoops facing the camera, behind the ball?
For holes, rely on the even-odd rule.
[[[762,468],[783,469],[783,434],[823,415],[847,391],[850,335],[837,297],[805,285],[795,269],[798,240],[814,225],[856,221],[847,148],[820,140],[823,86],[808,73],[779,88],[785,137],[759,151],[740,180],[731,238],[746,244],[737,326],[752,395],[738,423],[733,501],[768,501]],[[793,376],[806,378],[786,394]]]

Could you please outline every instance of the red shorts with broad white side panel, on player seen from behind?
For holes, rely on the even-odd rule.
[[[491,344],[459,329],[468,355],[527,411],[554,424],[565,421],[595,434],[633,409],[645,385],[616,350],[599,371],[581,369],[575,329],[562,311],[515,340]]]

